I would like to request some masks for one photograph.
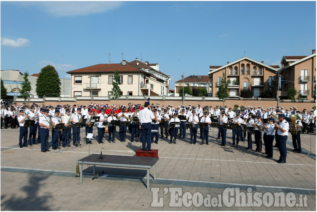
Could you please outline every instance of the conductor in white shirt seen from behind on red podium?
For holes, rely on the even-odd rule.
[[[140,111],[139,121],[141,129],[141,142],[143,151],[151,151],[151,122],[156,119],[156,116],[149,110],[150,98],[144,103],[144,108]]]

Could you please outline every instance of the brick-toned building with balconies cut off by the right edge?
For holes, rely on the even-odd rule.
[[[281,77],[280,98],[287,99],[290,88],[298,92],[300,100],[316,99],[316,50],[309,56],[283,56],[282,68],[276,73]]]

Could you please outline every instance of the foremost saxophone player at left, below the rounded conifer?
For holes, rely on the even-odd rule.
[[[48,137],[50,129],[50,118],[48,116],[49,110],[44,109],[44,115],[39,118],[38,124],[40,126],[41,133],[41,152],[49,152],[48,149]]]

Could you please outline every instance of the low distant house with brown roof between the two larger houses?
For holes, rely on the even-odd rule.
[[[175,82],[175,96],[182,96],[179,95],[179,91],[181,88],[190,87],[191,90],[194,88],[206,88],[207,93],[211,95],[211,82],[212,80],[209,78],[208,75],[191,75],[184,78],[184,84],[183,79],[178,80]]]

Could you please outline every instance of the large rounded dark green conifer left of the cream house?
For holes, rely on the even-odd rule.
[[[54,66],[47,65],[41,69],[36,79],[36,94],[39,98],[43,96],[60,96],[60,79]]]

